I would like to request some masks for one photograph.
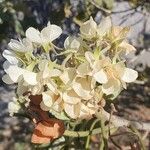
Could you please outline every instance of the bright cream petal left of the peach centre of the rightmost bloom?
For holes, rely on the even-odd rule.
[[[105,73],[103,69],[101,69],[100,71],[94,74],[94,79],[98,83],[102,83],[102,84],[108,81],[107,74]]]

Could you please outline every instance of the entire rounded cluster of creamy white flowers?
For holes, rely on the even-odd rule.
[[[43,119],[45,112],[60,120],[92,118],[103,109],[107,98],[116,98],[126,89],[126,83],[134,82],[138,76],[126,67],[124,56],[135,51],[125,40],[128,31],[127,27],[113,26],[110,17],[99,25],[91,17],[81,25],[78,37],[66,38],[64,48],[54,44],[62,34],[61,28],[50,23],[41,32],[30,27],[24,39],[11,40],[9,50],[3,52],[7,61],[2,78],[7,84],[18,85],[15,101],[9,104],[11,114],[26,108],[38,122],[36,129],[49,124],[49,119]],[[56,55],[55,61],[50,53]],[[61,55],[65,59],[59,64]],[[38,112],[39,117],[32,111]],[[54,126],[50,131],[63,128],[55,119],[51,122]],[[49,136],[56,138],[58,130],[56,133],[57,136]],[[38,143],[35,135],[33,142]]]

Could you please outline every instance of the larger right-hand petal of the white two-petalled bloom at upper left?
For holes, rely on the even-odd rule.
[[[52,42],[62,34],[62,29],[57,25],[48,25],[41,31],[41,37],[45,42]]]

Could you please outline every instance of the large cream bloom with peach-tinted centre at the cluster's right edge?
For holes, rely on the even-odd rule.
[[[112,64],[107,57],[94,60],[91,52],[86,52],[86,58],[93,69],[93,78],[102,84],[102,91],[107,95],[118,93],[122,86],[126,88],[125,83],[134,82],[138,77],[137,71],[125,67],[124,62]]]

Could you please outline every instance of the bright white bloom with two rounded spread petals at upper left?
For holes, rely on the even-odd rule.
[[[47,27],[43,28],[41,32],[33,27],[26,30],[26,37],[29,38],[31,42],[42,46],[51,43],[61,34],[62,29],[59,26],[50,23],[48,23]]]

